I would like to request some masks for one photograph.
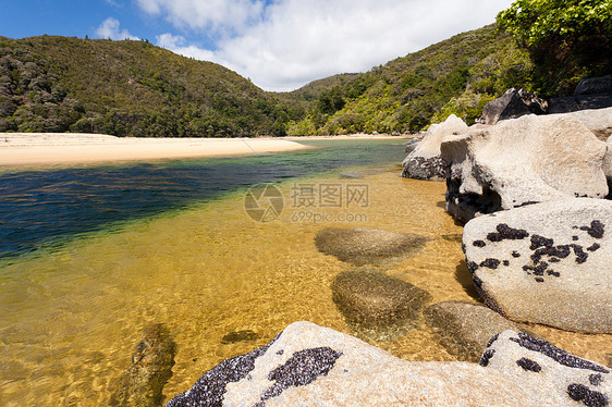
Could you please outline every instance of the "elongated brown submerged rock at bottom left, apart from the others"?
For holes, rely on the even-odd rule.
[[[157,407],[172,377],[176,345],[163,324],[147,326],[136,345],[132,365],[112,394],[111,406]]]

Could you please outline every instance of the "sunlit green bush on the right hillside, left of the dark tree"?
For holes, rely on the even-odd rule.
[[[364,74],[334,77],[308,94],[302,120],[290,135],[414,132],[451,113],[474,123],[482,106],[510,87],[530,87],[528,53],[495,26],[454,36],[376,66]],[[285,100],[303,99],[299,89]]]

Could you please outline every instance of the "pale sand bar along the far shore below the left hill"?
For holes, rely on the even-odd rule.
[[[0,165],[256,156],[311,148],[279,138],[136,138],[0,133]]]

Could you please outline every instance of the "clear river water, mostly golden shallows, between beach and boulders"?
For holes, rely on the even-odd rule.
[[[220,360],[267,343],[291,322],[308,320],[350,333],[331,300],[330,285],[335,274],[352,266],[317,251],[314,237],[323,227],[366,226],[426,236],[429,242],[421,251],[384,271],[429,291],[434,301],[476,301],[457,239],[462,227],[441,205],[444,184],[399,177],[404,153],[396,144],[332,144],[333,149],[306,156],[206,160],[205,165],[192,160],[103,168],[100,171],[121,173],[123,185],[161,185],[152,175],[138,175],[134,180],[140,181],[135,182],[125,174],[245,165],[244,171],[256,174],[255,182],[277,182],[284,206],[278,219],[257,222],[244,207],[253,181],[243,178],[241,185],[206,196],[206,188],[198,186],[204,181],[197,183],[204,175],[193,175],[194,184],[188,185],[196,187],[181,187],[176,170],[164,175],[173,192],[151,198],[156,205],[134,203],[124,212],[114,207],[110,223],[72,225],[61,238],[53,232],[38,240],[56,239],[50,246],[32,243],[21,255],[5,257],[0,271],[0,405],[107,405],[150,323],[164,323],[178,344],[166,399],[188,388]],[[326,156],[329,161],[322,164]],[[342,175],[347,165],[353,172]],[[266,171],[272,175],[265,176]],[[102,181],[91,184],[105,190]],[[340,186],[344,200],[330,205],[336,201],[319,196],[305,207],[296,192],[310,186]],[[367,187],[367,201],[347,202],[346,190],[357,186]],[[148,209],[130,213],[142,207]],[[259,338],[221,343],[225,334],[242,330],[252,330]],[[536,330],[558,346],[595,360],[610,345],[610,335]],[[377,345],[409,360],[453,360],[425,326]]]

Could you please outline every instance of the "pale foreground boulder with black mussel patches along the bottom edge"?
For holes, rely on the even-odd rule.
[[[552,345],[538,343],[551,355],[539,355],[539,359],[529,355],[530,360],[541,363],[540,373],[515,372],[517,361],[537,368],[515,360],[514,353],[504,358],[504,350],[495,347],[503,342],[501,337],[493,342],[489,350],[494,354],[487,367],[406,361],[340,332],[295,322],[270,344],[222,361],[167,406],[559,407],[577,406],[571,397],[583,394],[589,396],[583,403],[601,399],[599,394],[610,398],[610,373],[597,363],[561,349],[548,351],[547,346]],[[561,362],[554,362],[558,355],[563,357]],[[542,360],[544,356],[551,361]],[[563,369],[563,363],[571,363],[574,370]],[[589,384],[584,384],[585,377]]]

